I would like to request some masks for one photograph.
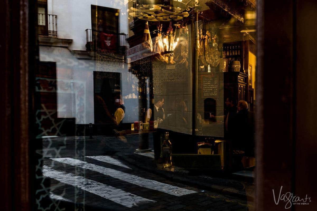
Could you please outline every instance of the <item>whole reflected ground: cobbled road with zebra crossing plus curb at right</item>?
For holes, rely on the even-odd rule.
[[[157,169],[154,153],[134,153],[139,135],[47,138],[42,144],[43,149],[37,151],[44,176],[37,192],[42,196],[39,207],[254,210],[253,203],[246,202],[252,184],[195,175],[181,168],[170,173]],[[213,185],[206,186],[211,181]],[[224,181],[227,186],[220,187]]]

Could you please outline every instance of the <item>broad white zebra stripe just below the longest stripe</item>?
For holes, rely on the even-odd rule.
[[[85,191],[99,195],[103,198],[109,199],[115,203],[121,204],[129,208],[137,206],[138,204],[155,202],[153,200],[149,200],[141,196],[128,193],[121,189],[117,189],[91,179],[86,179],[85,177],[76,176],[72,173],[56,171],[49,166],[43,166],[42,171],[43,175],[46,177],[50,177],[62,183],[81,188]]]

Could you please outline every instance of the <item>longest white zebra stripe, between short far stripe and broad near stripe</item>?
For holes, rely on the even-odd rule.
[[[62,162],[65,164],[73,165],[73,166],[79,166],[84,169],[88,169],[91,171],[96,171],[101,174],[114,177],[123,181],[126,181],[128,183],[132,183],[144,188],[158,190],[167,194],[176,195],[176,196],[182,196],[192,193],[197,193],[196,191],[179,188],[177,186],[161,183],[155,180],[146,179],[143,177],[139,177],[133,174],[128,174],[122,171],[117,171],[114,169],[106,168],[103,166],[87,163],[85,161],[77,160],[74,158],[51,158],[52,160]]]

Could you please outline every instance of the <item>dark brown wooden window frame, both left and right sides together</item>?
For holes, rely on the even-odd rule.
[[[285,210],[272,195],[281,186],[312,199],[292,210],[317,207],[316,4],[257,0],[257,211]],[[2,210],[33,210],[36,9],[36,0],[0,1]]]

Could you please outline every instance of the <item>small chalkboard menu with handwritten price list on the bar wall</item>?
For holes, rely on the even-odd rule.
[[[218,97],[218,75],[202,75],[202,96],[203,97]]]

